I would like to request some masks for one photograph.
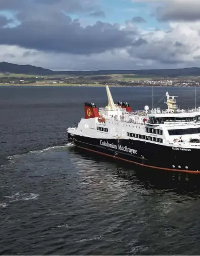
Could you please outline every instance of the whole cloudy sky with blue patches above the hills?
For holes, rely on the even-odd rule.
[[[200,0],[0,0],[0,62],[52,70],[200,66]]]

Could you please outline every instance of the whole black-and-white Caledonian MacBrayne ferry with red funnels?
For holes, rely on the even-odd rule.
[[[180,109],[166,92],[165,110],[114,103],[106,85],[108,106],[84,104],[84,118],[68,128],[68,141],[79,148],[143,167],[200,174],[200,108]]]

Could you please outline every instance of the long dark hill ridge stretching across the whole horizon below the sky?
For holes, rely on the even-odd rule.
[[[200,68],[184,69],[149,69],[149,70],[95,70],[95,71],[52,71],[32,65],[17,65],[8,62],[0,62],[0,73],[16,73],[28,75],[110,75],[110,74],[134,74],[139,76],[177,77],[200,76]]]

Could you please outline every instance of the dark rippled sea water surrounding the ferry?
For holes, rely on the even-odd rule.
[[[194,106],[194,88],[158,87],[157,107],[166,89]],[[111,92],[133,109],[152,104],[150,87]],[[84,102],[106,106],[106,89],[0,87],[0,254],[199,254],[199,178],[76,149],[67,128]]]

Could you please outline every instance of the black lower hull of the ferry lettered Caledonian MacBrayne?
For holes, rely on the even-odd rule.
[[[199,149],[170,147],[132,139],[99,139],[68,133],[79,148],[143,167],[200,174]]]

